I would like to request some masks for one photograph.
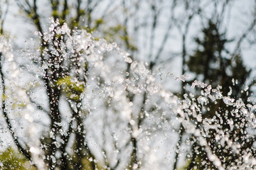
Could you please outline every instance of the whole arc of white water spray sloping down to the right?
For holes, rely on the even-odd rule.
[[[89,135],[100,135],[100,130],[97,128],[107,127],[110,130],[110,137],[114,137],[114,146],[111,148],[115,151],[114,157],[118,157],[118,154],[125,154],[126,149],[122,151],[122,146],[129,145],[130,137],[132,137],[139,143],[140,157],[146,157],[146,153],[149,153],[149,160],[144,160],[144,162],[148,161],[151,164],[160,162],[156,153],[151,150],[151,146],[154,146],[155,143],[155,140],[152,140],[153,134],[161,131],[168,136],[169,131],[175,129],[170,127],[176,121],[183,125],[189,137],[196,137],[199,145],[206,152],[208,160],[218,169],[227,167],[223,166],[223,160],[215,154],[207,140],[213,131],[215,132],[214,140],[218,145],[230,149],[235,154],[241,154],[241,167],[255,165],[256,160],[250,151],[240,153],[243,144],[230,140],[228,131],[223,130],[222,127],[223,121],[227,121],[230,130],[239,129],[242,125],[246,125],[250,129],[256,128],[253,113],[256,106],[245,104],[242,99],[232,98],[232,87],[230,87],[228,96],[223,96],[221,86],[213,89],[211,85],[194,81],[191,89],[201,89],[201,94],[199,96],[184,94],[182,98],[179,98],[171,91],[164,89],[161,82],[157,81],[157,76],[162,77],[163,75],[160,69],[157,74],[151,72],[148,64],[133,60],[129,53],[120,50],[115,43],[109,44],[103,39],[95,40],[85,30],[70,30],[66,23],[60,26],[58,21],[52,21],[48,33],[38,33],[38,35],[43,37],[42,46],[51,43],[49,48],[43,50],[42,56],[51,61],[43,61],[40,68],[42,73],[45,74],[50,67],[55,69],[63,67],[60,65],[61,62],[71,65],[68,67],[68,64],[64,64],[68,68],[63,69],[66,69],[69,75],[60,76],[55,83],[65,92],[65,97],[68,98],[73,110],[77,112],[80,108],[79,114],[84,116],[88,126],[92,125],[88,128],[91,130],[91,132],[87,132]],[[56,41],[56,35],[58,35],[58,41]],[[0,51],[4,53],[6,60],[12,63],[14,56],[11,53],[9,42],[0,41]],[[55,58],[50,58],[50,56],[55,56]],[[54,67],[53,64],[55,64]],[[14,68],[13,70],[9,69],[11,75],[19,74],[16,72],[17,66],[9,68]],[[52,72],[54,71],[52,70]],[[44,75],[39,76],[43,77]],[[172,75],[172,77],[174,76]],[[186,81],[186,77],[187,75],[182,75],[174,77],[174,79]],[[33,82],[31,81],[31,83]],[[235,80],[233,80],[233,84],[237,84]],[[35,112],[36,108],[29,102],[26,92],[22,91],[29,91],[29,89],[20,90],[21,96],[26,99],[24,103],[28,110],[24,114],[24,118],[29,123],[33,123],[31,114]],[[247,90],[246,86],[244,92],[246,93]],[[76,94],[72,94],[72,91],[76,91]],[[80,102],[75,104],[73,101]],[[208,107],[209,103],[214,103],[214,106],[217,106],[220,101],[223,101],[226,106],[232,107],[231,111],[216,112],[213,118],[205,117],[204,114],[211,109]],[[245,119],[245,123],[235,125],[232,119],[223,120],[223,115]],[[217,119],[218,121],[215,121]],[[109,125],[106,125],[107,123]],[[95,131],[92,130],[94,127],[96,127]],[[39,140],[33,137],[38,130],[35,130],[36,126],[33,124],[30,124],[30,128],[31,135],[29,137],[35,139],[28,142],[30,152],[33,154],[36,164],[39,165],[38,167],[43,169],[43,166],[40,166],[43,165],[40,159],[43,152]],[[105,132],[102,134],[105,135]],[[53,132],[50,132],[51,135]],[[169,143],[170,138],[165,137],[164,140]],[[97,149],[102,147],[100,142],[96,142],[95,145]],[[55,156],[51,155],[50,157],[55,160]],[[104,157],[107,157],[105,152]],[[138,166],[140,164],[134,165],[134,167]],[[235,169],[233,166],[228,168]]]

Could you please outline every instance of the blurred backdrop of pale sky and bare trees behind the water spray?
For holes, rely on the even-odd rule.
[[[33,67],[36,68],[30,64],[31,60],[33,62],[41,61],[36,56],[40,56],[43,39],[38,38],[37,33],[43,34],[49,30],[50,17],[54,21],[58,20],[60,24],[68,23],[71,30],[86,30],[87,33],[92,34],[95,40],[104,38],[109,43],[116,42],[120,49],[129,52],[129,57],[133,61],[146,62],[146,68],[159,75],[158,81],[162,86],[181,100],[186,99],[184,94],[201,95],[201,89],[191,89],[195,80],[211,84],[213,88],[222,86],[223,95],[235,98],[235,100],[241,98],[242,101],[249,102],[249,96],[255,96],[253,94],[256,75],[255,0],[0,0],[0,33],[11,39],[14,60],[18,63],[18,68],[28,69],[30,74],[34,72],[31,71]],[[24,55],[25,49],[33,52],[35,56]],[[7,67],[6,72],[8,72]],[[126,72],[129,73],[129,69]],[[26,77],[26,74],[24,75],[20,82],[23,84],[21,86],[26,86],[26,81],[28,79],[30,81],[31,77],[35,76]],[[174,79],[163,79],[163,77],[174,77]],[[176,81],[177,77],[180,77],[178,79],[181,80],[186,79],[186,81]],[[233,89],[231,95],[230,87]],[[250,95],[244,94],[244,91]],[[46,98],[40,99],[38,103],[43,103]],[[133,97],[129,95],[127,98],[130,101],[133,100]],[[143,106],[145,98],[141,100]],[[208,103],[208,105],[210,111],[203,111],[203,119],[216,117],[215,112],[218,111],[218,108],[215,108],[213,103]],[[223,103],[219,103],[218,106],[223,106],[227,111],[232,110]],[[154,113],[154,109],[149,108],[149,111]],[[141,122],[138,116],[134,117],[138,118],[138,127],[140,127]],[[201,152],[200,148],[198,149],[196,137],[188,135],[182,124],[179,125],[177,121],[173,121],[177,117],[176,114],[174,114],[174,118],[166,116],[166,120],[170,124],[174,123],[172,128],[168,128],[169,140],[163,140],[166,133],[160,132],[162,140],[160,142],[164,141],[164,145],[161,144],[157,154],[150,154],[151,156],[148,158],[154,166],[145,165],[144,169],[218,169],[218,166],[214,164],[206,166],[206,163],[203,162],[206,153]],[[4,127],[4,118],[2,119]],[[235,116],[226,119],[238,121]],[[38,119],[38,121],[41,120]],[[200,126],[200,123],[196,125]],[[18,125],[16,126],[18,127]],[[224,127],[223,130],[225,131],[226,128]],[[3,154],[0,155],[0,162],[1,160],[10,160],[9,163],[4,163],[5,166],[9,164],[18,167],[17,169],[26,169],[29,165],[26,165],[28,162],[23,157],[10,157],[10,155],[15,155],[11,154],[15,152],[14,148],[9,147],[14,143],[11,136],[8,135],[8,130],[6,128],[1,128],[1,130],[5,137],[1,137]],[[237,129],[231,130],[230,134],[230,136],[239,134],[237,135],[239,137],[244,135]],[[237,136],[233,140],[237,141]],[[110,134],[110,137],[113,135]],[[215,137],[206,138],[210,142]],[[122,140],[122,137],[120,139]],[[124,139],[127,140],[125,137]],[[24,141],[26,140],[28,139]],[[92,141],[95,142],[95,139]],[[131,137],[127,141],[130,141],[131,150],[133,150],[133,138]],[[184,144],[180,148],[186,141],[192,142],[190,145]],[[244,150],[255,146],[251,140],[248,140],[247,144]],[[211,146],[214,145],[212,143]],[[159,143],[154,148],[158,146],[160,146]],[[182,148],[183,151],[181,151]],[[140,158],[145,158],[142,156],[143,154],[139,153],[140,156],[137,157],[129,151],[122,152],[121,150],[124,158],[120,156],[122,159],[119,159],[118,154],[113,154],[115,155],[114,159],[108,163],[105,160],[105,166],[109,169],[124,169],[124,164],[130,164],[130,169],[139,169],[140,166],[134,166],[134,164],[138,164]],[[237,159],[233,154],[223,154],[222,147],[218,147],[218,150],[215,154],[221,160],[225,160],[222,162],[225,168],[230,167]],[[95,155],[100,153],[99,149],[94,152]],[[201,154],[194,154],[195,152]],[[125,153],[131,154],[131,157],[127,158],[129,156]],[[99,157],[101,162],[104,162],[104,157]],[[228,159],[228,157],[232,158]],[[18,159],[22,167],[13,159]],[[120,165],[119,160],[123,159],[125,161],[122,162],[128,163]],[[127,161],[129,159],[130,161]]]

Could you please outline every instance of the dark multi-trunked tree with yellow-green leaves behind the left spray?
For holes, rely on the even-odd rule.
[[[59,21],[60,25],[63,25],[64,22],[69,23],[70,28],[75,29],[82,26],[81,22],[86,22],[87,30],[90,28],[91,30],[95,29],[95,27],[100,25],[100,22],[95,21],[95,26],[92,26],[92,18],[91,13],[95,10],[97,4],[100,1],[86,1],[86,8],[82,8],[82,1],[49,1],[50,8],[51,8],[51,15],[53,17],[53,21]],[[54,38],[51,40],[46,40],[43,33],[43,15],[38,12],[41,7],[38,5],[42,3],[42,1],[16,1],[18,7],[23,11],[28,18],[31,18],[33,21],[34,26],[38,30],[38,33],[41,35],[41,52],[39,59],[37,58],[34,60],[36,67],[42,67],[43,64],[47,64],[48,68],[44,69],[45,75],[41,77],[41,80],[44,82],[46,86],[46,95],[48,96],[48,106],[49,110],[43,109],[40,103],[36,103],[33,101],[31,97],[31,102],[36,105],[37,108],[45,112],[48,117],[50,118],[50,127],[48,133],[44,137],[42,137],[42,145],[43,150],[45,152],[45,159],[48,169],[69,169],[70,166],[73,166],[73,169],[82,169],[82,161],[84,158],[92,159],[89,163],[87,163],[87,167],[90,169],[96,169],[96,164],[94,162],[95,156],[90,151],[89,147],[87,146],[87,142],[85,139],[85,130],[84,130],[84,123],[82,122],[84,118],[81,116],[80,108],[78,111],[74,111],[72,107],[72,120],[68,123],[69,127],[68,130],[63,129],[63,118],[60,113],[60,96],[62,93],[67,94],[67,100],[70,100],[70,103],[75,103],[75,106],[78,106],[78,103],[81,103],[80,95],[84,89],[86,84],[85,77],[79,77],[78,72],[75,72],[73,75],[73,79],[70,80],[70,69],[79,69],[78,60],[80,57],[79,52],[76,55],[73,55],[73,58],[70,59],[70,62],[63,62],[64,56],[63,52],[61,52],[60,41],[65,43],[63,37],[60,37],[60,33],[55,33],[53,36]],[[70,3],[70,4],[69,4]],[[4,17],[4,15],[1,15]],[[80,18],[83,20],[81,21]],[[102,20],[103,18],[101,18]],[[1,22],[1,26],[3,21]],[[1,27],[2,28],[2,27]],[[54,31],[55,28],[53,28]],[[89,32],[91,30],[88,30]],[[2,29],[1,29],[2,31]],[[46,52],[48,50],[48,52]],[[55,53],[53,53],[55,52]],[[2,64],[3,62],[1,62]],[[49,65],[50,64],[50,65]],[[64,65],[63,64],[67,64]],[[86,71],[85,71],[86,72]],[[1,69],[1,79],[2,85],[5,88],[5,78],[4,72]],[[76,86],[76,84],[80,84]],[[65,87],[64,87],[65,86]],[[63,89],[63,90],[62,90]],[[5,94],[5,91],[4,91]],[[28,160],[32,162],[32,155],[29,151],[28,147],[23,147],[21,144],[21,140],[16,137],[16,132],[13,130],[13,126],[11,125],[11,121],[9,119],[9,115],[6,111],[6,104],[5,101],[3,102],[3,111],[4,117],[6,118],[6,123],[9,125],[9,129],[11,130],[11,134],[14,137],[15,144],[17,145],[18,149],[21,151],[22,154],[26,156]],[[73,123],[76,123],[76,128],[71,128]],[[81,130],[82,129],[82,130]],[[65,134],[62,131],[67,131]],[[74,152],[78,154],[75,161],[72,162],[68,159],[68,153],[66,152],[68,142],[70,142],[70,135],[75,134],[75,141],[74,142]],[[60,137],[61,145],[60,147],[56,145],[58,137]],[[55,154],[60,153],[60,162],[56,162]],[[71,156],[72,157],[72,156]],[[75,165],[73,165],[73,163]],[[89,166],[90,165],[90,166]]]

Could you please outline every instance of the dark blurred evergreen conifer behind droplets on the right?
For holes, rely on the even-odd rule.
[[[208,26],[203,28],[202,33],[203,39],[195,39],[198,47],[194,55],[188,59],[188,72],[195,75],[194,80],[211,84],[213,88],[219,87],[222,89],[222,95],[228,96],[223,100],[209,101],[206,111],[203,111],[201,115],[203,120],[212,120],[211,125],[222,125],[218,130],[210,130],[206,141],[213,150],[213,154],[220,159],[223,167],[229,169],[231,165],[241,163],[238,158],[243,152],[251,150],[250,153],[253,153],[251,157],[255,157],[255,148],[253,147],[255,136],[248,135],[248,122],[245,113],[242,111],[238,113],[238,110],[233,108],[235,103],[228,101],[241,100],[245,106],[250,104],[248,98],[249,94],[252,94],[251,87],[255,82],[252,81],[250,84],[247,82],[250,79],[251,70],[245,67],[240,55],[230,56],[230,52],[225,46],[231,40],[225,38],[225,33],[220,33],[218,23],[208,21]],[[202,89],[197,89],[194,94],[201,95]],[[200,101],[198,101],[199,103]],[[197,123],[198,128],[203,128],[202,122],[198,122],[194,118],[191,119]],[[220,144],[219,131],[228,137],[229,142],[240,143],[239,151],[229,147],[227,141],[224,145]],[[198,145],[197,137],[193,136],[192,139],[192,156],[188,169],[195,167],[196,169],[218,169],[209,162],[208,154]]]

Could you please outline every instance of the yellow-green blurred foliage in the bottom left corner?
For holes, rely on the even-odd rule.
[[[0,169],[33,170],[35,168],[33,168],[33,166],[31,166],[28,160],[25,159],[21,154],[19,154],[14,149],[9,147],[0,154]]]

